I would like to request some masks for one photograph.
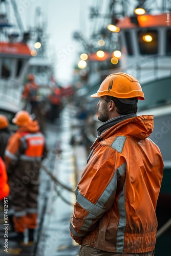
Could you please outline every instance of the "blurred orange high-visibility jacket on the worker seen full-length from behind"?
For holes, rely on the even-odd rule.
[[[40,161],[44,155],[45,138],[39,132],[37,121],[31,121],[20,127],[15,134],[13,134],[7,144],[5,151],[5,163],[7,173],[11,173],[11,166],[16,165],[22,161],[34,162]],[[24,167],[26,168],[26,166]]]

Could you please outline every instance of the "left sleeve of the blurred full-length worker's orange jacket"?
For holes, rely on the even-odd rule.
[[[12,173],[13,167],[16,165],[19,159],[19,137],[14,134],[10,137],[6,150],[5,150],[5,165],[8,174]]]

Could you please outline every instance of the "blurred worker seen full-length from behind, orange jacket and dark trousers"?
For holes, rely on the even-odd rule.
[[[33,242],[37,225],[39,163],[47,154],[45,138],[39,132],[37,121],[33,121],[27,111],[19,111],[12,121],[18,130],[8,141],[5,163],[17,232],[14,240],[22,243],[27,227],[29,242]]]

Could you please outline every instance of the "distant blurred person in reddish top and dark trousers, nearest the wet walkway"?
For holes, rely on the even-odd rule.
[[[59,87],[54,86],[52,88],[51,94],[49,95],[49,101],[51,104],[50,121],[52,123],[59,122],[59,114],[62,109],[61,96],[61,89]]]

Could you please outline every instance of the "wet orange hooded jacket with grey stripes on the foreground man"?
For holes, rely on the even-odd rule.
[[[118,253],[154,250],[163,160],[148,138],[152,131],[153,116],[144,115],[98,135],[75,190],[70,230],[79,244]]]

